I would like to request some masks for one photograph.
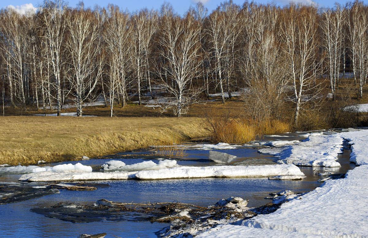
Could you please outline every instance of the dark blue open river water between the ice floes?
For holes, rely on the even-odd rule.
[[[280,134],[282,140],[301,140],[298,133]],[[263,140],[274,140],[265,137]],[[259,148],[238,148],[221,150],[227,154],[238,156],[232,163],[259,161],[262,164],[274,164],[276,158],[270,155],[259,154]],[[215,165],[209,161],[209,151],[188,149],[185,156],[176,158],[179,165],[208,166]],[[338,170],[345,173],[354,165],[349,162],[350,151],[345,150],[339,155],[342,167]],[[104,158],[91,159],[81,162],[84,165],[99,166],[105,161],[118,159],[127,165],[153,160],[151,151],[124,152]],[[51,166],[58,163],[50,164]],[[268,180],[267,178],[241,178],[241,179],[172,179],[172,180],[114,180],[98,181],[107,183],[107,188],[99,188],[95,191],[68,191],[60,190],[59,194],[43,196],[41,198],[0,205],[0,237],[78,237],[79,234],[97,234],[106,232],[107,238],[155,238],[154,232],[166,227],[167,223],[151,223],[142,221],[103,221],[91,223],[71,223],[59,219],[45,217],[31,212],[29,209],[54,205],[58,202],[95,202],[105,198],[114,202],[185,202],[195,205],[208,206],[222,198],[239,196],[249,199],[248,206],[255,207],[264,205],[270,200],[264,199],[270,192],[291,190],[307,192],[321,185],[317,180],[321,177],[316,173],[321,167],[300,167],[307,176],[299,181]],[[0,176],[0,181],[17,181],[20,175]]]

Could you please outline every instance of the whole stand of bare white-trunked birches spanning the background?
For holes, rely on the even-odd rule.
[[[368,6],[224,1],[209,12],[201,3],[177,14],[128,12],[117,6],[75,8],[44,1],[35,14],[0,12],[1,102],[22,111],[60,115],[74,104],[103,100],[113,116],[132,98],[158,100],[183,116],[210,94],[231,100],[242,91],[250,118],[327,113],[342,120],[351,98],[364,97],[368,76]],[[317,113],[317,114],[311,114]]]

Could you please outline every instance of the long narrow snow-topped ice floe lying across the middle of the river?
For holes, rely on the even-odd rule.
[[[164,161],[160,161],[164,162]],[[168,162],[163,163],[165,166]],[[158,165],[159,166],[159,165]],[[295,165],[262,166],[179,166],[159,170],[115,171],[105,173],[82,170],[44,171],[24,174],[20,181],[115,180],[115,179],[187,179],[209,177],[273,177],[278,175],[304,176]]]

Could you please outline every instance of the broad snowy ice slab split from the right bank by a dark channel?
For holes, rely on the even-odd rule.
[[[282,141],[276,141],[282,142]],[[311,133],[301,143],[283,148],[259,149],[260,153],[279,157],[279,164],[299,166],[340,167],[337,155],[342,151],[343,138],[339,134],[321,135]]]

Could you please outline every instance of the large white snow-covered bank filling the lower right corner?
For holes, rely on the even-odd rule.
[[[244,226],[215,227],[197,238],[368,237],[368,130],[338,135],[353,144],[351,158],[360,165],[344,179],[328,180],[274,213],[244,220]]]

